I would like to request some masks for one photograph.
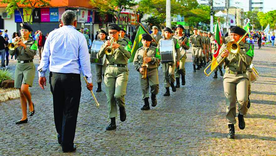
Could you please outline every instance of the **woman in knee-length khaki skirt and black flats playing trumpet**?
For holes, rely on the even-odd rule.
[[[28,122],[27,101],[29,104],[29,116],[34,115],[34,103],[32,102],[29,86],[33,85],[35,67],[33,63],[34,55],[37,50],[37,42],[30,37],[32,28],[29,25],[20,24],[22,40],[17,36],[15,41],[20,40],[14,50],[9,50],[10,55],[17,55],[18,62],[14,74],[14,87],[19,88],[22,118],[16,124]]]

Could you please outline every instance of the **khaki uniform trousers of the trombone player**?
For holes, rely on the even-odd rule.
[[[236,99],[241,115],[247,113],[248,78],[246,74],[228,74],[223,77],[224,95],[226,97],[227,124],[236,124]]]

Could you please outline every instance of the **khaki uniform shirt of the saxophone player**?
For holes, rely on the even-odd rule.
[[[139,71],[139,68],[143,64],[143,56],[144,56],[145,48],[139,48],[134,56],[133,64],[135,66],[135,70]],[[158,54],[157,54],[158,53]],[[159,52],[156,47],[150,46],[147,51],[147,57],[151,57],[151,62],[148,62],[148,69],[157,68],[158,64],[160,64],[160,59],[156,57],[156,54],[159,56]]]

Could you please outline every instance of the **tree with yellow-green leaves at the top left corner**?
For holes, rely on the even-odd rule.
[[[8,4],[6,7],[8,14],[13,14],[14,10],[18,10],[23,23],[24,17],[20,8],[31,9],[31,14],[29,16],[29,19],[27,19],[28,24],[30,24],[34,8],[50,6],[50,1],[51,0],[2,0],[1,3]]]

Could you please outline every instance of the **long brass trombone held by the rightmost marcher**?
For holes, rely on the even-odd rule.
[[[240,51],[240,49],[241,49],[239,43],[242,41],[242,39],[243,39],[245,36],[247,36],[247,34],[248,34],[248,32],[246,32],[246,33],[244,34],[244,36],[242,36],[238,42],[235,42],[235,41],[230,41],[230,42],[228,42],[228,43],[226,44],[226,48],[224,48],[224,49],[218,54],[217,57],[220,57],[220,54],[223,53],[226,49],[227,49],[231,54],[237,54],[237,53],[239,53],[239,51]],[[223,60],[226,58],[226,57],[222,58],[221,61],[220,61],[218,64],[215,64],[215,67],[212,68],[211,65],[213,64],[213,62],[217,61],[217,57],[214,58],[214,59],[212,60],[212,62],[204,69],[204,74],[205,74],[206,76],[211,75],[211,73],[217,68],[217,66],[219,66],[219,64],[221,64],[221,63],[223,62]],[[206,71],[207,71],[207,69],[210,68],[210,67],[211,67],[211,71],[210,71],[210,73],[207,73]]]

